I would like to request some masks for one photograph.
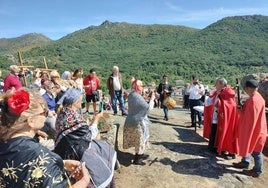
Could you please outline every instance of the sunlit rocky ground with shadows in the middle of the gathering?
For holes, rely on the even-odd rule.
[[[108,111],[111,113],[111,111]],[[125,117],[111,115],[114,134],[118,127],[115,147],[121,168],[115,172],[118,188],[266,188],[268,187],[268,155],[264,157],[264,173],[260,178],[245,176],[232,168],[240,157],[225,160],[207,150],[208,142],[202,129],[190,128],[189,111],[176,107],[170,110],[170,120],[162,120],[162,109],[149,113],[150,144],[145,166],[132,164],[134,149],[122,148]],[[102,134],[105,137],[105,134]],[[109,137],[109,136],[108,136]],[[108,138],[109,139],[109,138]],[[114,141],[111,141],[114,142]],[[267,148],[266,150],[267,151]],[[252,165],[251,165],[252,166]]]

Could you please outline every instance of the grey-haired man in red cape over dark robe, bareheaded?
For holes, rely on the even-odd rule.
[[[203,136],[209,139],[209,150],[221,154],[228,152],[228,159],[235,158],[235,130],[237,110],[235,92],[224,78],[218,78],[216,91],[205,101]]]

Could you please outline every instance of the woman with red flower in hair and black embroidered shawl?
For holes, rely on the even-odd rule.
[[[0,109],[0,187],[87,187],[90,177],[84,164],[83,177],[71,185],[66,170],[78,172],[81,163],[63,161],[33,139],[47,112],[38,93],[7,92],[1,96]]]

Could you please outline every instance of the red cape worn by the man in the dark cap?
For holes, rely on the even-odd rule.
[[[257,92],[244,104],[238,125],[238,154],[262,152],[267,135],[265,101]]]

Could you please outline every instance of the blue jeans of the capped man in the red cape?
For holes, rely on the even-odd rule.
[[[257,174],[261,174],[263,171],[263,157],[262,157],[262,153],[261,152],[253,152],[252,157],[254,158],[254,167],[253,167],[253,171],[256,172]],[[241,162],[245,165],[249,165],[250,164],[250,154],[246,157],[243,157],[241,159]]]

